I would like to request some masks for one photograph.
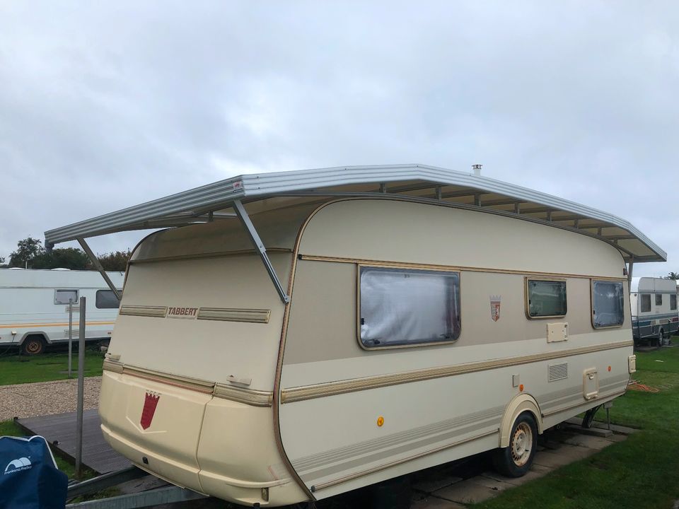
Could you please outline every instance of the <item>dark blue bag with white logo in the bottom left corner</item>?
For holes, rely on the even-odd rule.
[[[68,485],[45,438],[0,437],[0,509],[64,509]]]

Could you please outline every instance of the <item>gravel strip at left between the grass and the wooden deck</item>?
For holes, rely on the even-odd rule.
[[[101,377],[85,379],[85,409],[99,404]],[[0,421],[76,411],[78,380],[0,386]]]

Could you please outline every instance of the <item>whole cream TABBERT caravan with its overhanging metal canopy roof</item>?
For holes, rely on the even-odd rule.
[[[129,262],[106,440],[243,505],[314,501],[496,450],[624,394],[628,276],[665,253],[620,218],[422,165],[243,175],[50,230],[175,227]]]

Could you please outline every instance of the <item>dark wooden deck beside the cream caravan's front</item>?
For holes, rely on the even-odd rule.
[[[76,412],[16,419],[25,433],[41,435],[52,445],[52,450],[66,460],[75,462]],[[83,414],[83,465],[98,474],[113,472],[130,465],[127,458],[111,449],[101,433],[97,410]]]

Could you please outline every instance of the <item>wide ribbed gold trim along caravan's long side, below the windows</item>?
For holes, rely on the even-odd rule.
[[[545,353],[536,353],[528,356],[509,357],[494,361],[481,361],[474,363],[442,366],[441,368],[426,368],[421,370],[406,371],[405,373],[394,373],[392,375],[379,375],[366,378],[354,378],[352,380],[340,380],[337,382],[324,382],[315,385],[303,385],[301,387],[291,387],[281,392],[281,403],[291,403],[306,399],[319,397],[335,396],[347,392],[377,389],[378,387],[388,387],[390,385],[400,385],[434,378],[445,378],[465,373],[475,373],[477,371],[492,370],[498,368],[508,368],[509,366],[535,363],[539,361],[550,361],[555,358],[563,358],[585,353],[613,350],[633,346],[633,341],[617,341],[615,343],[600,344],[593,346],[581,346],[576,349],[560,350]]]

